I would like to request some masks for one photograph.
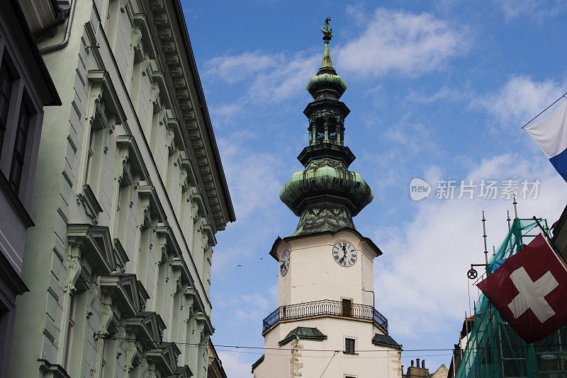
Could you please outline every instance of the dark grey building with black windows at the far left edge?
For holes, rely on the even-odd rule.
[[[8,365],[22,277],[43,107],[60,98],[18,1],[0,9],[0,377]]]

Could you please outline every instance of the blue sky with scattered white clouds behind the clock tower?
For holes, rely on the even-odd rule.
[[[320,67],[320,27],[330,17],[333,65],[349,86],[351,170],[374,190],[355,224],[383,251],[374,260],[376,307],[405,349],[452,348],[469,311],[466,270],[483,260],[481,211],[498,246],[512,201],[478,192],[436,199],[437,183],[456,181],[458,194],[461,180],[539,180],[537,198],[519,200],[520,217],[551,224],[561,214],[567,184],[520,127],[567,91],[565,2],[182,4],[237,214],[213,255],[213,343],[264,345],[278,273],[268,252],[298,222],[278,193],[303,168],[305,85]],[[416,177],[432,185],[419,202],[409,195]],[[262,355],[218,349],[233,378],[251,377]],[[405,352],[403,365],[412,357],[430,370],[450,363],[448,352]]]

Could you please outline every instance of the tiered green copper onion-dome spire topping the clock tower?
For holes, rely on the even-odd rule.
[[[350,110],[339,98],[347,84],[332,67],[330,18],[321,28],[325,50],[321,67],[307,84],[313,96],[303,113],[309,118],[309,144],[298,159],[305,170],[293,173],[279,197],[300,217],[293,236],[354,229],[352,217],[374,194],[359,173],[349,171],[354,154],[344,145],[344,118]]]

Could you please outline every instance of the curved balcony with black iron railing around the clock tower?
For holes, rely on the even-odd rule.
[[[388,334],[388,319],[374,307],[366,304],[332,301],[330,299],[287,304],[286,306],[278,307],[262,321],[262,334],[283,321],[319,318],[322,316],[372,321]]]

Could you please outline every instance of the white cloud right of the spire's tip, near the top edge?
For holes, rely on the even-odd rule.
[[[443,67],[465,47],[461,31],[430,13],[378,8],[364,32],[339,50],[337,61],[356,74],[419,76]]]

